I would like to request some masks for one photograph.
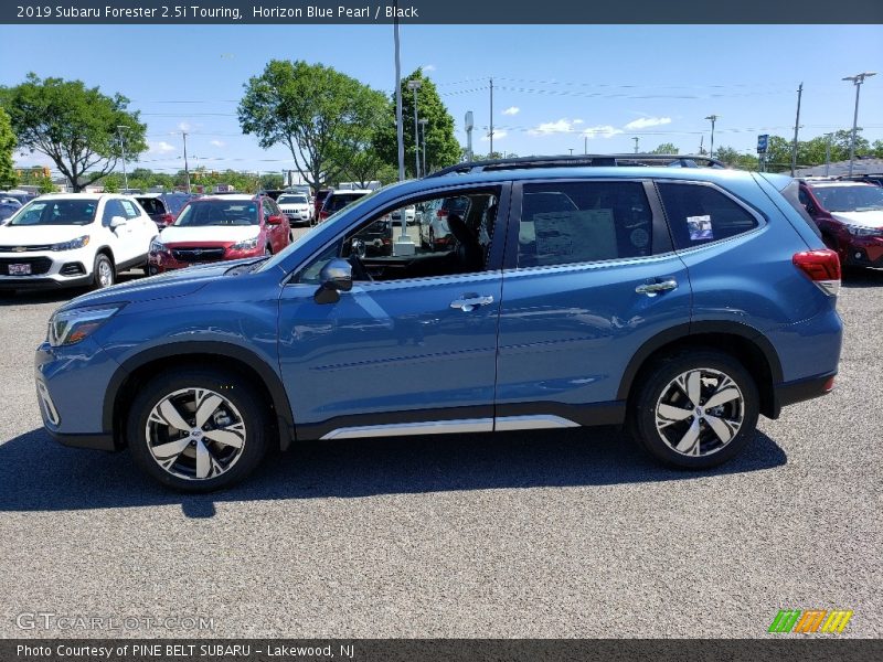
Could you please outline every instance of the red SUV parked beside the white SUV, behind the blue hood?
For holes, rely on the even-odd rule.
[[[269,195],[191,200],[150,245],[148,271],[278,253],[290,243],[288,218]]]

